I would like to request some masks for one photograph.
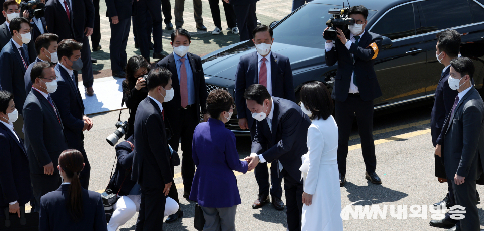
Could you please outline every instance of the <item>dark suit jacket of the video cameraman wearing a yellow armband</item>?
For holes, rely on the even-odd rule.
[[[347,35],[347,38],[349,38],[349,35]],[[377,75],[373,68],[375,60],[372,57],[375,51],[371,47],[368,47],[371,43],[376,43],[378,49],[381,50],[382,41],[383,38],[381,35],[365,31],[361,35],[358,45],[351,44],[349,50],[339,39],[333,41],[336,47],[333,47],[328,52],[325,50],[324,58],[326,65],[333,66],[338,62],[333,93],[331,94],[334,100],[340,102],[346,101],[353,71],[356,76],[359,95],[363,101],[374,100],[382,96],[382,90],[380,89]],[[354,54],[354,64],[351,54]]]

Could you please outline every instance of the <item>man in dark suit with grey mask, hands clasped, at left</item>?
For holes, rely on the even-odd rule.
[[[69,148],[76,149],[83,155],[86,165],[79,178],[81,179],[81,186],[84,189],[89,189],[91,165],[84,150],[83,131],[91,130],[93,123],[91,118],[84,115],[84,103],[77,86],[77,78],[73,72],[73,67],[81,63],[82,46],[83,44],[74,39],[66,39],[59,43],[57,54],[60,59],[54,68],[58,77],[58,88],[52,93],[52,99],[59,109]]]

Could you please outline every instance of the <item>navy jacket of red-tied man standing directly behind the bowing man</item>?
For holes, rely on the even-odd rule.
[[[296,102],[289,58],[271,52],[269,59],[271,61],[272,96]],[[252,127],[254,118],[247,108],[244,92],[252,84],[259,83],[258,71],[257,51],[240,57],[235,73],[235,106],[238,119],[246,118],[249,128]]]

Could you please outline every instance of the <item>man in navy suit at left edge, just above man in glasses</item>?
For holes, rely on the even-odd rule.
[[[10,21],[10,33],[13,37],[10,42],[0,51],[0,87],[2,90],[14,94],[15,107],[22,111],[27,92],[25,92],[24,75],[29,66],[29,54],[27,43],[30,41],[30,23],[26,18],[14,18]],[[23,116],[15,122],[15,127],[22,131]],[[20,138],[24,139],[24,133],[19,132]]]

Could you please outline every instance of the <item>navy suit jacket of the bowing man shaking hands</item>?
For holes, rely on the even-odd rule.
[[[301,156],[308,152],[306,138],[311,120],[292,101],[272,97],[272,132],[267,119],[256,121],[251,153],[262,154],[267,162],[279,160],[294,180],[301,182]]]

